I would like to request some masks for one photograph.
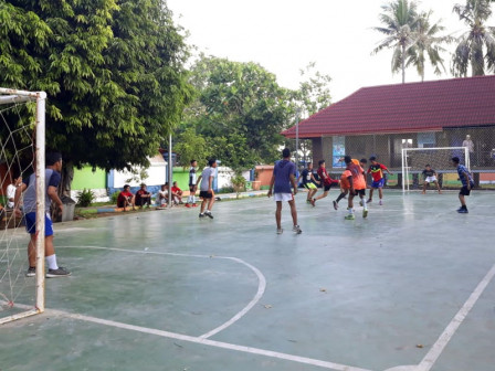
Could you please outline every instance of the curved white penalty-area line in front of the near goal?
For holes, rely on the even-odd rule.
[[[180,253],[161,253],[161,252],[150,252],[150,251],[136,251],[136,250],[125,250],[125,248],[117,248],[117,247],[102,247],[102,246],[57,246],[63,248],[95,248],[95,250],[112,250],[112,251],[118,251],[118,252],[125,252],[125,253],[134,253],[134,254],[155,254],[155,255],[169,255],[169,256],[182,256],[182,257],[200,257],[200,258],[218,258],[218,259],[227,259],[227,261],[233,261],[235,263],[245,265],[247,268],[254,272],[254,274],[257,277],[257,292],[256,295],[251,299],[251,301],[235,316],[233,316],[231,319],[229,319],[227,322],[222,324],[221,326],[212,329],[211,331],[203,333],[200,336],[202,339],[208,339],[212,337],[215,333],[219,333],[220,331],[223,331],[229,326],[232,326],[238,320],[240,320],[242,317],[244,317],[262,298],[262,296],[265,293],[266,289],[266,279],[263,276],[263,274],[257,269],[256,267],[252,266],[251,264],[244,262],[243,259],[240,259],[238,257],[231,257],[231,256],[215,256],[215,255],[192,255],[192,254],[180,254]]]

